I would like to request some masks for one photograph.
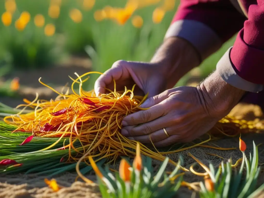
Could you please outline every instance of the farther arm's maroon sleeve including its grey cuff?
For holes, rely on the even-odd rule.
[[[189,41],[202,61],[237,33],[244,20],[228,0],[181,0],[165,39],[177,36]]]

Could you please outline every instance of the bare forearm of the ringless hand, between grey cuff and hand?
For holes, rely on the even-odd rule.
[[[192,68],[199,66],[200,59],[196,49],[186,40],[169,37],[153,56],[151,63],[161,65],[161,75],[168,79],[168,88]]]

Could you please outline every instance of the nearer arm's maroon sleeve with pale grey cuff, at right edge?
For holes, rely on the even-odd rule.
[[[216,70],[229,84],[244,91],[264,88],[264,1],[249,6],[248,20],[234,46],[220,59]]]

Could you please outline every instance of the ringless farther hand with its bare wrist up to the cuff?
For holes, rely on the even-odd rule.
[[[115,62],[95,82],[95,93],[105,93],[106,88],[113,90],[115,79],[117,91],[124,90],[125,86],[132,88],[136,84],[135,95],[149,93],[148,96],[152,97],[172,88],[184,74],[199,63],[199,55],[190,43],[171,37],[164,41],[150,63],[124,60]]]

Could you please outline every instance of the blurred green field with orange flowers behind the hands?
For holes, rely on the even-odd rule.
[[[63,86],[74,72],[104,72],[119,59],[148,62],[161,45],[179,1],[138,0],[137,8],[133,2],[2,0],[0,102],[9,102],[3,96],[19,97],[22,92],[35,95],[32,88],[42,87],[39,77],[51,86]],[[233,42],[234,38],[225,43],[177,86],[194,76],[206,77]],[[91,76],[84,88],[92,89],[97,77]]]

